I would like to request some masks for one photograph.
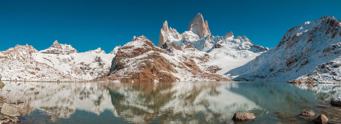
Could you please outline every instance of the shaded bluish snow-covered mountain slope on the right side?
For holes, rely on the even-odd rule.
[[[246,81],[341,83],[340,65],[341,21],[324,16],[290,28],[277,47],[226,74]]]

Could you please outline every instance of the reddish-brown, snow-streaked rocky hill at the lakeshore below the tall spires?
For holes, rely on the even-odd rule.
[[[123,77],[120,75],[119,77],[115,74],[113,76],[121,82],[177,81],[177,78],[169,73],[176,73],[177,71],[173,69],[172,65],[160,53],[167,53],[167,51],[154,46],[145,36],[134,37],[132,42],[124,45],[117,51],[109,74],[114,74],[116,71],[124,69],[131,69],[130,66],[133,64],[132,70],[122,73],[129,76]],[[136,59],[137,57],[138,59]],[[134,60],[136,61],[130,63]]]

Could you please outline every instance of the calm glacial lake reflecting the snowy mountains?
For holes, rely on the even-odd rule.
[[[247,124],[314,124],[320,114],[341,123],[329,103],[341,84],[2,82],[0,95],[24,102],[22,124],[234,124],[236,112],[255,114]],[[298,116],[306,110],[314,118]]]

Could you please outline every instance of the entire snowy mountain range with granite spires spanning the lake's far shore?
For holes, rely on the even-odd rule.
[[[19,81],[288,81],[341,83],[341,21],[324,16],[289,29],[274,48],[246,36],[213,36],[199,13],[178,33],[165,21],[155,46],[145,36],[78,53],[71,45],[42,51],[17,45],[0,52],[2,80]]]

